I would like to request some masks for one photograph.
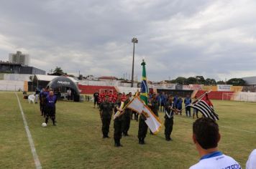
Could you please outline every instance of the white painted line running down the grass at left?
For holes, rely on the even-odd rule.
[[[33,158],[34,158],[34,161],[35,161],[35,167],[37,169],[41,169],[42,165],[41,165],[40,160],[38,158],[37,151],[35,150],[35,145],[34,145],[34,142],[33,142],[33,139],[32,139],[32,135],[29,131],[29,127],[27,126],[27,120],[26,120],[24,112],[22,110],[22,105],[19,102],[19,97],[17,95],[17,92],[15,92],[15,95],[17,96],[17,100],[18,100],[18,103],[19,103],[19,109],[20,109],[20,112],[22,113],[22,119],[23,119],[23,122],[24,122],[25,130],[27,132],[27,138],[29,140],[29,145],[30,145],[30,148],[31,148],[31,152],[32,152],[32,155],[33,155]]]

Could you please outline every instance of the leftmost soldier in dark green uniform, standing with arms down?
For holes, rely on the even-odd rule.
[[[113,113],[113,105],[109,102],[109,95],[105,95],[105,101],[101,103],[99,107],[99,115],[102,122],[102,134],[103,138],[109,137],[109,125],[111,121],[111,116]]]

